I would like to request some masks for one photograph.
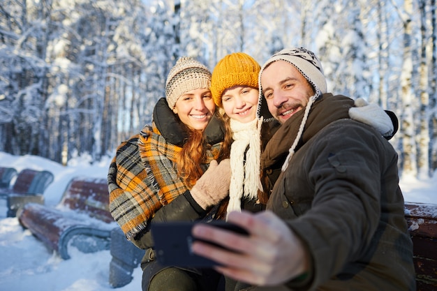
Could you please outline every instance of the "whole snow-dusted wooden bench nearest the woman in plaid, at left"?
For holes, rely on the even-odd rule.
[[[57,206],[29,203],[17,217],[64,260],[70,258],[69,246],[83,253],[109,250],[110,232],[116,226],[109,211],[108,182],[101,178],[76,177]]]

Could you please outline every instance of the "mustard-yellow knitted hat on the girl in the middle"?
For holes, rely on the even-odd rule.
[[[235,86],[258,89],[260,65],[249,54],[235,52],[218,61],[212,71],[211,93],[214,103],[221,107],[223,91]]]

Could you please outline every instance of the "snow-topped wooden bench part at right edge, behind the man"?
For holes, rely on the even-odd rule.
[[[406,202],[417,291],[437,290],[437,204]]]

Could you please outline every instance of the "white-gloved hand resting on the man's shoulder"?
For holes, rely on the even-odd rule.
[[[369,105],[363,98],[355,100],[355,107],[349,109],[349,116],[351,119],[375,128],[383,136],[389,136],[393,133],[392,119],[383,108],[376,104]]]

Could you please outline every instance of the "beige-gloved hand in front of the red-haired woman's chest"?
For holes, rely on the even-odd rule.
[[[230,184],[229,161],[229,158],[221,161],[220,164],[216,160],[211,161],[208,170],[202,174],[202,177],[195,182],[191,189],[191,196],[203,209],[221,202],[228,196]]]

